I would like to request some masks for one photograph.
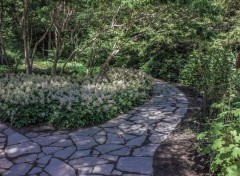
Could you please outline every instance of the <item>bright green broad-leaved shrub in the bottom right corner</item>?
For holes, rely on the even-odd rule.
[[[201,153],[211,156],[212,172],[220,176],[238,176],[240,173],[240,101],[236,101],[232,106],[229,102],[221,102],[214,104],[213,108],[217,108],[220,113],[211,122],[208,130],[198,135],[198,139],[208,144]]]

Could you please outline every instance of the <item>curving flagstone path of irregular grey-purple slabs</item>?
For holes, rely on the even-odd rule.
[[[0,175],[152,175],[155,150],[187,107],[177,88],[156,82],[149,102],[96,127],[20,134],[0,123]]]

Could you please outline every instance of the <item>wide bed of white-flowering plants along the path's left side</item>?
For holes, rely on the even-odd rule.
[[[112,69],[101,80],[77,76],[6,75],[0,78],[0,119],[16,127],[49,123],[58,128],[103,123],[144,102],[152,79]]]

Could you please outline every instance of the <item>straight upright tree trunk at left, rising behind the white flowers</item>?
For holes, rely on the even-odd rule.
[[[32,74],[32,67],[30,63],[29,41],[27,31],[27,17],[28,17],[28,0],[23,0],[23,17],[22,17],[22,37],[24,44],[24,58],[26,74]]]

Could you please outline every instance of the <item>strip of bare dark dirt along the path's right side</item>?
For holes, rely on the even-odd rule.
[[[196,133],[201,130],[202,98],[192,88],[174,85],[188,98],[185,117],[172,134],[156,150],[154,176],[210,176],[206,158],[195,148]]]

